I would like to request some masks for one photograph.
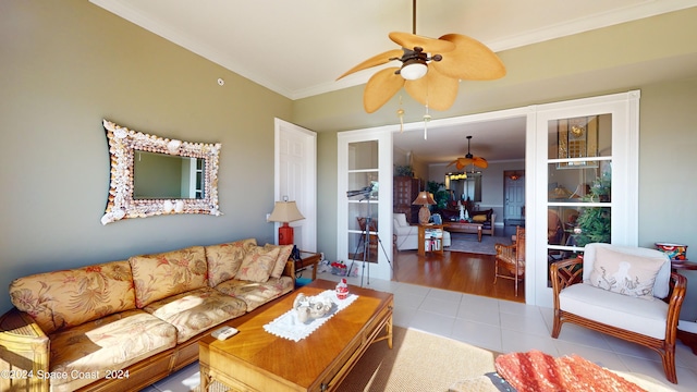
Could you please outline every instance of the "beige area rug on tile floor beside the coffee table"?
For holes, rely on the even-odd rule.
[[[497,354],[484,348],[394,327],[393,348],[372,344],[337,391],[448,391],[455,382],[494,371]]]

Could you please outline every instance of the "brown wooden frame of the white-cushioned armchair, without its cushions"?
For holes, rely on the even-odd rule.
[[[687,279],[685,279],[685,277],[676,272],[671,272],[670,292],[663,299],[663,302],[669,305],[665,338],[656,339],[633,331],[627,331],[622,328],[589,320],[585,317],[580,317],[559,308],[559,293],[572,284],[582,283],[583,259],[575,258],[553,262],[550,267],[550,275],[552,279],[552,291],[554,294],[554,326],[552,327],[552,338],[559,338],[562,323],[572,322],[580,327],[644,345],[656,351],[661,356],[665,378],[672,383],[677,383],[677,376],[675,375],[675,338],[677,335],[680,309],[683,301],[685,299],[685,291],[687,286]]]

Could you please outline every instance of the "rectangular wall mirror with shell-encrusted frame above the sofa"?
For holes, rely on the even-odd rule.
[[[220,143],[192,143],[103,120],[111,175],[101,224],[170,213],[220,216]]]

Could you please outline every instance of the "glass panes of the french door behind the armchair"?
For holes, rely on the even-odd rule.
[[[548,261],[610,243],[612,114],[548,122]]]

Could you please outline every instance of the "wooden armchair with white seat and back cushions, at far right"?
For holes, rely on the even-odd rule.
[[[652,292],[653,301],[615,293],[589,283],[596,254],[600,247],[637,257],[664,257]],[[649,347],[661,356],[665,378],[677,383],[675,375],[675,338],[680,309],[685,297],[687,280],[671,272],[665,255],[655,249],[622,247],[610,244],[588,244],[584,258],[552,264],[550,275],[554,299],[554,326],[557,339],[564,322],[602,332],[628,342]],[[664,296],[665,295],[665,296]]]

